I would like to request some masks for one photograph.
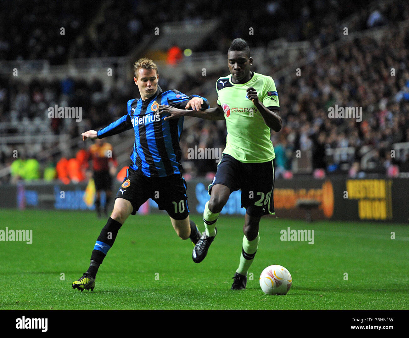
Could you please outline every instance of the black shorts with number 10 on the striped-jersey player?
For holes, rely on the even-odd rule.
[[[173,219],[185,219],[189,215],[186,188],[180,174],[147,177],[141,170],[129,168],[115,199],[120,197],[130,201],[133,206],[131,214],[135,215],[139,207],[151,198]]]

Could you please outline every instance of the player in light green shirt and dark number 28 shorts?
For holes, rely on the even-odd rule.
[[[260,236],[258,225],[263,215],[274,215],[274,148],[270,128],[281,130],[279,98],[273,79],[251,71],[253,59],[245,40],[235,39],[227,52],[230,75],[217,80],[218,106],[204,111],[179,110],[160,106],[165,119],[183,115],[209,120],[226,120],[227,139],[216,176],[209,186],[210,200],[205,205],[206,231],[193,249],[192,258],[202,262],[213,242],[216,221],[233,191],[241,189],[241,206],[246,208],[240,264],[231,289],[246,288],[247,271],[254,260]]]

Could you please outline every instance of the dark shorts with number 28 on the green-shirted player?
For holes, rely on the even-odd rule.
[[[243,163],[223,154],[217,166],[216,176],[209,185],[223,184],[230,193],[241,189],[241,207],[253,217],[274,215],[274,160],[262,163]]]

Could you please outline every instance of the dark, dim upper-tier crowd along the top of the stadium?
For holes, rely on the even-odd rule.
[[[218,29],[196,51],[224,52],[237,36],[248,36],[250,45],[267,47],[276,38],[292,42],[320,35],[326,45],[339,38],[333,23],[353,12],[359,13],[351,21],[355,30],[401,20],[405,13],[403,4],[394,1],[376,8],[368,7],[370,0],[309,0],[303,6],[295,3],[253,2],[243,10],[212,0],[160,0],[155,6],[148,0],[4,0],[0,59],[47,59],[51,64],[62,64],[68,58],[123,56],[163,22],[197,24],[213,18],[220,19]],[[20,22],[24,22],[24,30],[19,29]]]

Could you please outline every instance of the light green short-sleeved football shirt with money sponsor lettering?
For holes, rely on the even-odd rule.
[[[227,138],[225,154],[240,162],[259,163],[275,158],[268,127],[251,100],[247,88],[257,91],[258,99],[265,107],[280,109],[276,85],[271,76],[254,73],[246,83],[231,82],[231,74],[217,80],[217,103],[225,112]]]

